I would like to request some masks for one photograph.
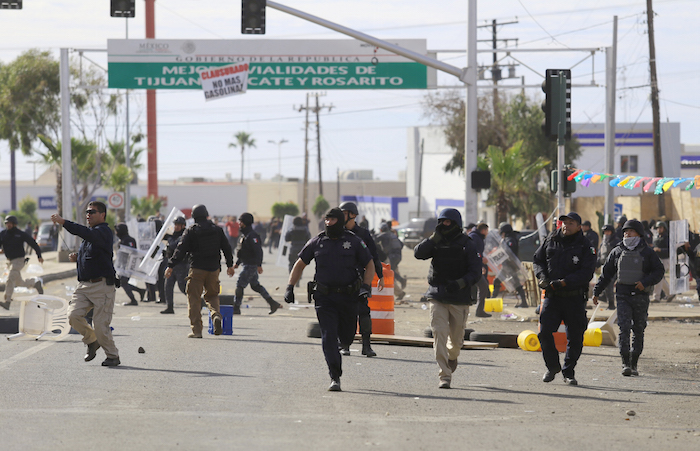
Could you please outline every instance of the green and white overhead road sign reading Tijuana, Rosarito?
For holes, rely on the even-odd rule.
[[[395,43],[427,53],[425,40]],[[426,66],[355,40],[108,41],[110,88],[201,89],[201,72],[234,63],[249,63],[248,89],[428,87]]]

